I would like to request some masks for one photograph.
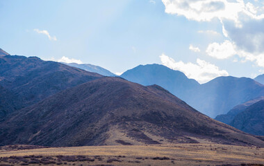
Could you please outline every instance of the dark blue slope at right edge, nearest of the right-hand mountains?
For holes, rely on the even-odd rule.
[[[238,113],[230,125],[247,133],[264,136],[264,100],[260,100],[247,107],[245,111]]]

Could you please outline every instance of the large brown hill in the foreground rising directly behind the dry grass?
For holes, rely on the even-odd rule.
[[[103,77],[11,113],[0,123],[1,145],[142,145],[206,140],[264,142],[199,113],[160,86]]]

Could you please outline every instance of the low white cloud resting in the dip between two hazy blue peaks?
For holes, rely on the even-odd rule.
[[[163,65],[183,72],[187,77],[193,78],[200,83],[205,83],[213,80],[215,77],[227,76],[229,73],[224,70],[220,70],[214,64],[206,62],[197,58],[196,64],[191,62],[184,63],[182,61],[175,62],[174,59],[167,55],[160,55],[160,60]]]

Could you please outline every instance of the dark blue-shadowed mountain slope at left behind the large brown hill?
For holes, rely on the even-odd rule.
[[[0,85],[28,106],[77,84],[103,77],[38,57],[0,56]]]

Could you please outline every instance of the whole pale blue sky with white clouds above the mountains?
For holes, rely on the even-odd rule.
[[[264,73],[262,0],[0,0],[0,48],[122,73],[164,64],[200,83]]]

